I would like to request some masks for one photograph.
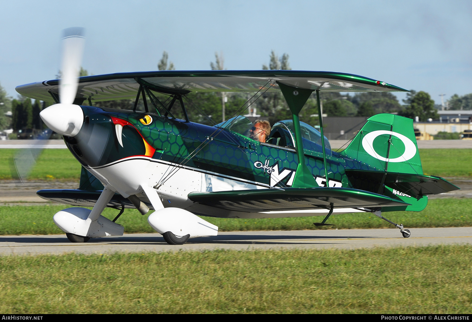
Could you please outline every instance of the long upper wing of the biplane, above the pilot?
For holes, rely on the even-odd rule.
[[[140,84],[167,94],[191,91],[259,91],[268,82],[320,91],[407,91],[371,78],[345,73],[294,70],[256,71],[156,71],[83,76],[77,99],[106,101],[134,99]],[[21,85],[17,92],[32,99],[52,101],[59,93],[59,80]],[[269,91],[278,91],[275,83]]]

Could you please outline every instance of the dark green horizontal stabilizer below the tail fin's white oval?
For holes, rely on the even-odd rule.
[[[447,180],[432,175],[347,169],[346,175],[355,189],[377,193],[383,182],[387,187],[417,199],[459,190]]]

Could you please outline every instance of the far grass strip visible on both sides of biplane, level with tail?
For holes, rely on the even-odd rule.
[[[0,179],[11,179],[9,163],[14,149],[0,149]],[[424,173],[441,177],[472,176],[472,149],[420,149]],[[78,181],[80,165],[67,149],[44,149],[30,179]]]

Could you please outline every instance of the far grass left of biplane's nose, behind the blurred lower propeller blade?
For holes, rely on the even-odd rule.
[[[11,179],[10,164],[16,149],[0,149],[0,179]],[[80,164],[68,149],[43,149],[29,180],[79,181]]]

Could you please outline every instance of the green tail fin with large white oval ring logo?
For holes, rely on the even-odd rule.
[[[340,153],[380,171],[423,174],[411,118],[393,114],[371,116]]]

